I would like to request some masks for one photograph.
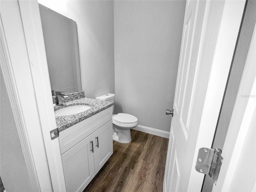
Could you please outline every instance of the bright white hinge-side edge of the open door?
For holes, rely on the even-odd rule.
[[[202,121],[198,132],[198,141],[193,158],[193,165],[196,165],[198,150],[202,147],[211,148],[220,106],[226,87],[226,81],[232,62],[236,40],[244,12],[245,0],[237,2],[226,0],[222,13],[222,20],[218,34],[216,49],[214,52],[211,76],[208,83],[208,90],[202,111]],[[230,22],[232,18],[232,22]],[[202,58],[204,64],[207,64],[207,58]],[[218,90],[218,91],[217,91]],[[221,91],[219,91],[221,90]],[[216,94],[218,93],[218,94]],[[213,103],[212,101],[215,101]],[[214,114],[209,116],[208,114]],[[190,172],[188,191],[200,191],[204,175],[196,172],[194,166]],[[198,181],[202,181],[197,185]]]

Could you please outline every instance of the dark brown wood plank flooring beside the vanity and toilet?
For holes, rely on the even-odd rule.
[[[131,130],[83,192],[162,192],[168,139]]]

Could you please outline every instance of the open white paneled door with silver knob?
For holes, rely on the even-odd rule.
[[[210,148],[245,1],[187,1],[163,189],[200,191],[198,149]]]

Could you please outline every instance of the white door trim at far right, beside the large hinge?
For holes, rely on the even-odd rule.
[[[256,34],[248,52],[230,126],[223,163],[213,191],[256,191]]]

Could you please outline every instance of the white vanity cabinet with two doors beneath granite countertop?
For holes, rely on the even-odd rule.
[[[112,107],[60,132],[67,192],[82,192],[113,154]]]

